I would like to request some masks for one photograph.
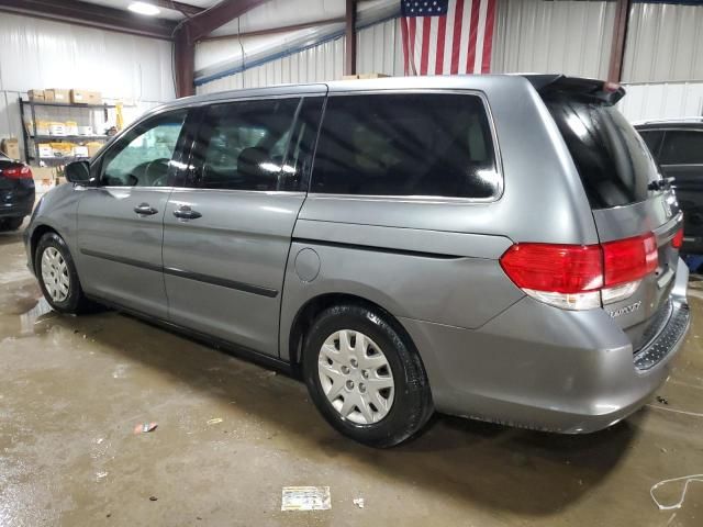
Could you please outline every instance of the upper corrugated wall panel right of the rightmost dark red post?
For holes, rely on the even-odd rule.
[[[623,80],[703,81],[703,5],[634,3]]]

